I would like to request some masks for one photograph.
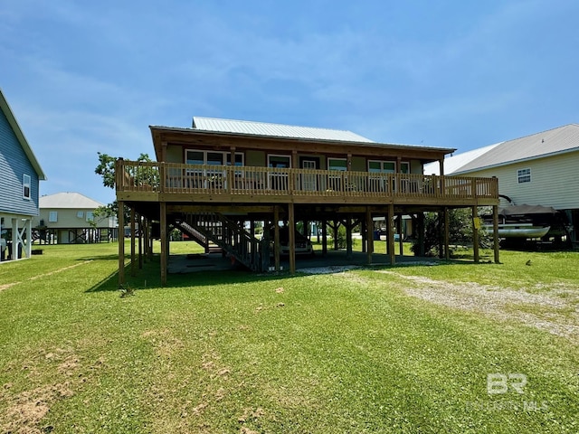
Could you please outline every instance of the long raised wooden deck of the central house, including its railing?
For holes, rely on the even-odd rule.
[[[179,203],[497,205],[497,178],[117,162],[117,199]]]

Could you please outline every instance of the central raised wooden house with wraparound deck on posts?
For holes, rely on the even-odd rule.
[[[427,163],[438,162],[442,168],[454,149],[375,143],[350,131],[215,118],[194,118],[190,128],[150,130],[157,161],[119,159],[116,192],[119,205],[127,205],[133,216],[160,223],[164,283],[169,224],[201,244],[214,242],[249,269],[264,270],[280,267],[280,225],[274,222],[286,222],[289,228],[296,222],[321,222],[322,254],[327,251],[326,223],[342,222],[346,255],[352,252],[352,227],[361,222],[371,262],[373,237],[367,232],[375,217],[384,217],[394,263],[397,215],[413,215],[420,227],[425,211],[498,205],[496,179],[423,174]],[[123,219],[119,213],[119,226]],[[256,221],[265,222],[263,240],[254,236]],[[290,229],[292,272],[295,251],[296,234]],[[478,260],[478,252],[475,256]],[[121,283],[123,257],[119,243]]]

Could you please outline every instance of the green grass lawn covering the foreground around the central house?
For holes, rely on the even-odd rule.
[[[125,297],[116,252],[46,246],[0,266],[0,432],[579,431],[574,341],[410,297],[404,278],[565,288],[576,308],[577,252],[166,288],[156,257]],[[489,394],[489,373],[526,375],[524,394]]]

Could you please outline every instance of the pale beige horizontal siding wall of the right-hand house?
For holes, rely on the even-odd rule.
[[[469,172],[467,176],[497,176],[498,193],[515,203],[552,206],[558,210],[579,208],[579,152]],[[531,169],[531,182],[518,184],[517,170]]]

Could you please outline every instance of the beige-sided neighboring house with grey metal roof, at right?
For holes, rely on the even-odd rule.
[[[577,239],[579,226],[579,125],[570,124],[451,156],[446,175],[496,176],[498,193],[517,205],[564,211]],[[438,173],[428,165],[426,173]],[[508,204],[508,203],[504,203]]]

